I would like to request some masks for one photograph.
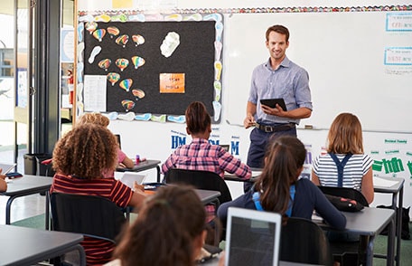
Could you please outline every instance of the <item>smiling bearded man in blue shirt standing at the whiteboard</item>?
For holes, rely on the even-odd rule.
[[[282,135],[296,137],[300,119],[307,119],[312,114],[309,74],[286,57],[289,30],[283,25],[269,27],[266,46],[270,58],[252,73],[247,115],[243,121],[245,128],[255,127],[250,132],[250,167],[263,167],[269,139]],[[285,100],[287,110],[278,104],[273,108],[260,104],[262,99],[276,98]]]

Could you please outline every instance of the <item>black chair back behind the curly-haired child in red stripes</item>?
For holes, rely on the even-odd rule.
[[[116,236],[126,223],[117,204],[96,195],[52,193],[52,229],[107,240]]]

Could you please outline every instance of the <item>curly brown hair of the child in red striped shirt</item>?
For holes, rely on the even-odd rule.
[[[101,178],[117,166],[117,139],[108,128],[78,125],[57,142],[52,157],[53,168],[63,175]]]

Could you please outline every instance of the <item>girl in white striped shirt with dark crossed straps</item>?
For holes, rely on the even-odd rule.
[[[328,134],[327,154],[314,158],[312,181],[315,185],[338,186],[338,170],[332,157],[342,162],[343,187],[359,190],[370,204],[373,201],[372,159],[363,153],[360,120],[351,113],[341,113],[332,122]]]

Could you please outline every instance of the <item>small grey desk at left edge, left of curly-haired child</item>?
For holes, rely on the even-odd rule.
[[[0,195],[7,195],[10,198],[5,205],[5,224],[10,224],[10,209],[15,198],[24,195],[46,193],[46,229],[49,229],[49,190],[52,186],[52,177],[24,175],[10,180],[7,183],[7,191],[0,192]]]

